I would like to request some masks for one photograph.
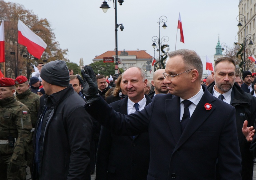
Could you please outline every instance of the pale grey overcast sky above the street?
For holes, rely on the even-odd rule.
[[[111,7],[106,13],[99,8],[103,1],[9,0],[46,18],[60,47],[69,50],[67,58],[78,65],[80,58],[87,65],[96,55],[115,48],[113,0],[106,0]],[[152,37],[158,36],[160,16],[168,18],[168,27],[160,29],[160,36],[168,36],[170,51],[175,50],[180,12],[185,44],[178,31],[176,49],[195,50],[205,69],[206,55],[213,63],[218,35],[228,47],[237,41],[238,4],[239,0],[125,0],[122,6],[117,4],[117,23],[124,25],[124,31],[118,29],[118,50],[146,50],[154,56]]]

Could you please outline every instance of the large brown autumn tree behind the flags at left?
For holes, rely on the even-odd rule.
[[[51,29],[51,24],[47,19],[38,19],[31,10],[26,10],[23,5],[11,2],[0,1],[0,19],[4,20],[5,28],[5,69],[6,77],[15,77],[16,61],[18,59],[18,70],[22,69],[23,74],[30,77],[33,70],[32,64],[38,62],[52,61],[52,60],[65,60],[69,62],[65,56],[68,49],[62,50],[59,43],[55,41],[55,34]],[[47,44],[41,59],[34,59],[28,53],[27,48],[17,44],[17,23],[18,19],[24,22],[35,34],[43,39]],[[18,45],[18,52],[17,52]],[[15,52],[15,55],[10,55],[10,52]]]

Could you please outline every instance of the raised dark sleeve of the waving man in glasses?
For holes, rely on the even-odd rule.
[[[152,104],[149,104],[141,111],[125,115],[114,111],[103,98],[100,98],[90,106],[85,105],[84,108],[102,126],[108,128],[111,133],[118,136],[132,136],[148,131],[152,107]],[[99,109],[101,110],[100,113]]]

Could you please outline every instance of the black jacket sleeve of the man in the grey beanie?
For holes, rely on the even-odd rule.
[[[70,163],[69,179],[85,179],[89,165],[92,120],[80,106],[66,118],[66,132],[69,139]]]

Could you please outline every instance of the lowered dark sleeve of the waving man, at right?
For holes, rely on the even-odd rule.
[[[235,109],[232,108],[219,139],[218,163],[222,180],[241,179],[241,153],[238,145],[235,114]]]

